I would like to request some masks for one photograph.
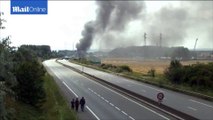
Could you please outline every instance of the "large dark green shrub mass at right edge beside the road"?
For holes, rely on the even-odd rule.
[[[213,63],[182,66],[171,61],[165,76],[174,83],[186,83],[191,87],[213,89]]]

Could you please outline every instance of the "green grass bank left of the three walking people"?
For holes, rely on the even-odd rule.
[[[40,108],[14,100],[7,96],[6,107],[14,120],[77,120],[75,112],[69,109],[66,100],[49,74],[44,76],[46,101]],[[11,109],[10,109],[11,108]]]

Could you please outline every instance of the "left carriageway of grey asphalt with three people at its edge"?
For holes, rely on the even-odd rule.
[[[65,62],[65,61],[64,61]],[[44,66],[54,75],[56,83],[68,99],[86,99],[85,112],[78,111],[80,119],[88,120],[170,120],[175,119],[143,103],[125,97],[55,60],[45,61]]]

